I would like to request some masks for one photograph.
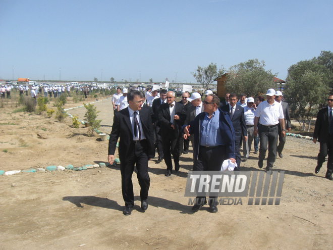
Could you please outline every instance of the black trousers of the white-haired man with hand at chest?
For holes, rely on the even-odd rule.
[[[174,130],[171,128],[169,132],[162,133],[163,157],[168,170],[172,170],[171,154],[174,157],[175,164],[179,164],[179,140],[182,137],[175,137]]]

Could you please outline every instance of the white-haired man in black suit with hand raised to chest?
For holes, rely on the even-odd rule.
[[[161,127],[163,155],[165,164],[167,164],[167,173],[165,176],[170,176],[172,173],[171,154],[174,157],[175,171],[178,172],[179,165],[179,140],[181,139],[181,127],[184,125],[186,112],[183,105],[175,102],[176,94],[174,91],[167,93],[167,103],[161,104],[158,111],[158,122]],[[170,152],[171,149],[171,152]]]

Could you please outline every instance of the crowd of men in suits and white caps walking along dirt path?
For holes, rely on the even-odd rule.
[[[333,102],[333,96],[331,97]],[[225,99],[220,102],[216,93],[211,90],[207,90],[204,96],[198,92],[183,92],[179,102],[175,98],[174,91],[156,88],[146,92],[123,89],[123,93],[118,88],[113,95],[115,116],[109,140],[108,161],[113,163],[115,145],[120,138],[125,215],[131,214],[134,206],[131,176],[135,165],[141,192],[144,193],[140,193],[141,207],[143,211],[148,208],[148,160],[155,156],[155,149],[157,162],[164,160],[167,165],[167,177],[173,171],[180,170],[180,156],[188,154],[190,142],[194,171],[221,170],[221,165],[226,160],[234,164],[234,171],[246,170],[241,165],[249,159],[252,143],[253,154],[259,153],[260,169],[264,166],[268,151],[265,164],[268,173],[272,173],[276,157],[283,158],[286,130],[291,130],[291,120],[288,103],[282,101],[281,91],[268,89],[266,101],[261,95],[254,98],[245,94],[226,93]],[[331,106],[333,108],[333,103]],[[150,114],[149,118],[146,117],[147,113]],[[126,140],[122,138],[125,134]],[[145,148],[147,144],[153,145],[154,150],[150,146]],[[142,156],[136,151],[137,148],[141,155],[145,155],[144,161],[141,161]],[[206,203],[206,197],[197,197],[192,211],[198,211]],[[208,203],[209,211],[217,212],[217,197],[209,197]]]

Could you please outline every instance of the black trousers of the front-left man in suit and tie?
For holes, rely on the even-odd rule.
[[[134,143],[134,142],[132,142]],[[141,187],[140,198],[147,199],[150,186],[150,178],[148,174],[148,142],[141,140],[134,144],[134,151],[126,158],[126,161],[120,162],[120,172],[122,174],[122,191],[126,207],[134,206],[134,193],[132,174],[134,165],[137,169],[137,178]]]

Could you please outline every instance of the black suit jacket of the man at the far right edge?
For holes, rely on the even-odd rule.
[[[317,114],[316,125],[313,131],[313,138],[317,138],[317,140],[321,143],[327,142],[329,139],[329,119],[327,107],[319,110]]]

